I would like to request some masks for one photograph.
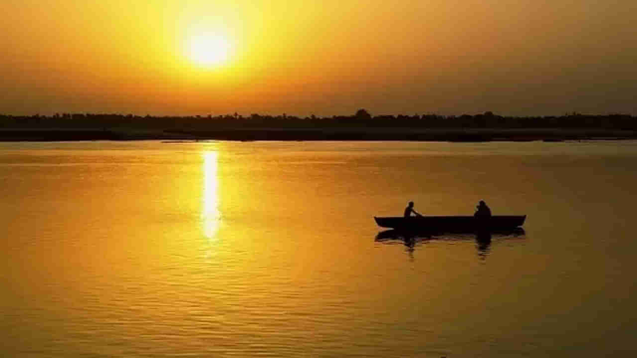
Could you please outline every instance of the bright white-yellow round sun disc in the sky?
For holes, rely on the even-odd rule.
[[[217,32],[201,32],[190,37],[189,57],[199,66],[211,68],[224,64],[230,50],[228,39]]]

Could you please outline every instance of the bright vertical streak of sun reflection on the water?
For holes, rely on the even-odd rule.
[[[212,239],[221,224],[219,211],[218,152],[204,152],[204,185],[203,185],[203,232],[206,238]]]

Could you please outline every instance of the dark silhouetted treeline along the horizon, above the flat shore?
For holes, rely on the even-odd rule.
[[[0,129],[175,129],[208,131],[239,128],[588,128],[637,130],[637,117],[632,115],[583,115],[570,113],[548,117],[504,117],[491,112],[478,115],[376,115],[359,110],[354,115],[333,117],[295,117],[289,115],[218,115],[189,117],[152,117],[121,114],[63,113],[52,116],[0,115]]]

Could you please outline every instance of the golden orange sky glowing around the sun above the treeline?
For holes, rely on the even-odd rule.
[[[637,114],[635,0],[0,0],[0,11],[0,113]]]

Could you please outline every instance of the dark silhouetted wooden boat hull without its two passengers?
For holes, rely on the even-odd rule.
[[[524,225],[526,215],[498,215],[492,217],[374,217],[380,227],[416,232],[472,233],[515,229]]]

